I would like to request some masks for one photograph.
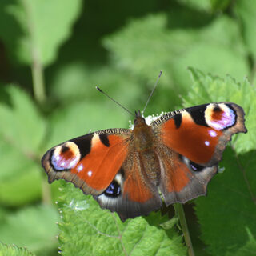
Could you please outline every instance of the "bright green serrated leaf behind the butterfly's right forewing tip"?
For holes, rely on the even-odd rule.
[[[246,114],[247,134],[239,134],[232,139],[232,145],[238,152],[253,150],[256,147],[256,90],[247,79],[239,83],[227,75],[226,78],[203,74],[190,68],[193,85],[187,96],[183,97],[184,106],[194,106],[208,102],[234,102],[242,106]]]

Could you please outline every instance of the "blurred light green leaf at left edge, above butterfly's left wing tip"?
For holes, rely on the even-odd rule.
[[[46,124],[25,91],[16,86],[6,86],[10,106],[0,102],[0,136],[27,158],[33,157],[45,135]]]

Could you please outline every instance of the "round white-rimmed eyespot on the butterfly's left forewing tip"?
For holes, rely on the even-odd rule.
[[[61,146],[56,146],[50,156],[50,164],[54,170],[70,170],[77,165],[79,160],[79,149],[74,142],[65,142]]]

